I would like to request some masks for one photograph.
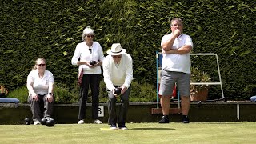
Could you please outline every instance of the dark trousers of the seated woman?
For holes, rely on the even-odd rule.
[[[42,118],[51,117],[54,112],[54,102],[48,102],[46,95],[38,94],[38,101],[34,101],[32,95],[28,97],[30,109],[32,112],[32,119],[40,121]]]

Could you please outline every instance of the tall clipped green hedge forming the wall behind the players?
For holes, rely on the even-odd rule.
[[[103,51],[120,42],[134,59],[134,81],[155,86],[155,51],[170,18],[184,19],[193,53],[218,54],[224,94],[256,94],[256,8],[250,0],[2,0],[0,2],[0,83],[24,86],[34,60],[46,58],[56,82],[74,89],[78,67],[71,65],[82,30],[91,26]],[[193,57],[194,66],[218,82],[216,61]],[[221,95],[217,86],[212,97]]]

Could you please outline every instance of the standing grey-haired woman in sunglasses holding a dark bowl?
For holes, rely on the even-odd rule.
[[[89,85],[92,92],[92,118],[94,123],[98,120],[98,95],[101,80],[101,66],[104,59],[102,46],[94,42],[94,30],[87,26],[82,32],[82,41],[78,43],[72,58],[72,65],[78,65],[78,84],[80,85],[78,124],[83,124],[86,118],[86,102]],[[91,63],[94,61],[95,63]],[[79,79],[81,81],[79,81]]]

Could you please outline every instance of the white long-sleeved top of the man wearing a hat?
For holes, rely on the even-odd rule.
[[[114,86],[122,85],[129,88],[133,80],[133,61],[130,54],[122,54],[117,66],[111,55],[106,56],[103,61],[103,76],[109,90],[114,90]]]

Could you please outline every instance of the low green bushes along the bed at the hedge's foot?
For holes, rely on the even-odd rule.
[[[155,90],[150,84],[139,84],[138,82],[131,83],[130,90],[130,102],[154,102],[156,100]],[[26,86],[18,87],[15,90],[10,91],[8,94],[10,98],[18,98],[20,103],[27,103],[28,90]],[[74,84],[73,89],[69,89],[66,84],[55,83],[54,84],[54,98],[55,103],[77,103],[79,98],[78,86]],[[108,100],[108,94],[106,92],[106,85],[103,81],[100,82],[99,89],[99,102],[106,103]],[[118,98],[118,102],[119,102]],[[91,91],[88,93],[88,103],[91,103]]]

